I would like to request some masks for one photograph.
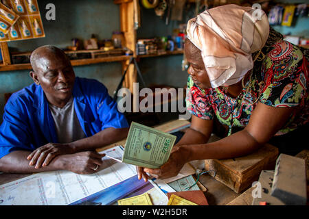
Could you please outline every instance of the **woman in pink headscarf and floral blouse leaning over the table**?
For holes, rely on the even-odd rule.
[[[192,124],[168,162],[158,169],[139,167],[139,179],[147,179],[145,172],[173,177],[186,162],[240,157],[267,142],[291,155],[308,148],[303,136],[308,133],[308,57],[282,38],[264,12],[259,18],[249,7],[224,5],[192,18],[185,41]],[[218,130],[225,138],[207,143]]]

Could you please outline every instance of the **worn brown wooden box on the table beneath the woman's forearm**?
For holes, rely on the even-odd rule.
[[[278,149],[271,144],[265,144],[255,153],[244,157],[206,159],[205,169],[214,170],[209,172],[209,175],[240,193],[254,181],[258,181],[262,170],[273,170],[277,156]]]

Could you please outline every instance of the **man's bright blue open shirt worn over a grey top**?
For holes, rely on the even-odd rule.
[[[108,127],[128,127],[117,103],[95,79],[76,77],[73,102],[86,137]],[[58,142],[54,118],[43,89],[32,83],[12,94],[5,105],[0,126],[0,158],[12,151],[34,151],[49,142]]]

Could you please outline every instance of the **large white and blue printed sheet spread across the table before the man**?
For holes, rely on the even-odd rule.
[[[124,149],[101,151],[122,159]],[[67,170],[41,172],[0,185],[0,205],[117,205],[120,198],[148,192],[154,205],[166,205],[168,197],[151,180],[137,179],[135,166],[103,157],[100,170],[78,175]]]

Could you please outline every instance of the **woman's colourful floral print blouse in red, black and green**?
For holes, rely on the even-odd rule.
[[[227,96],[220,88],[202,90],[189,77],[187,110],[198,118],[211,120],[216,116],[222,125],[244,128],[251,112],[260,101],[272,107],[295,107],[279,136],[308,123],[308,60],[290,42],[273,44],[262,62],[251,70],[251,76],[237,98]],[[238,129],[239,130],[239,129]]]

